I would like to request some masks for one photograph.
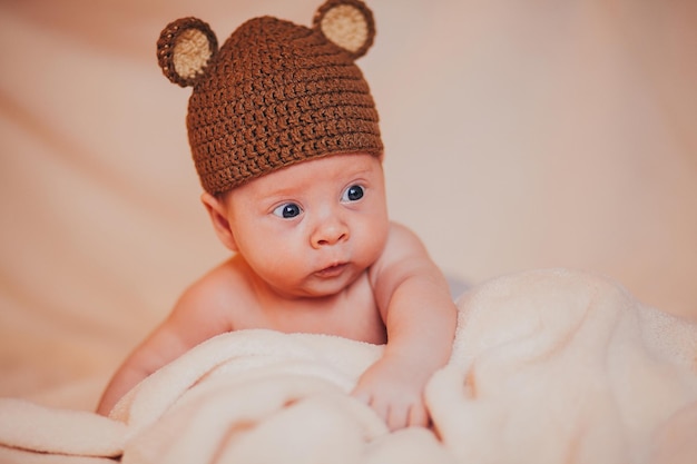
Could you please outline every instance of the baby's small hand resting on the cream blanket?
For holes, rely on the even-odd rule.
[[[408,358],[381,358],[363,373],[353,396],[370,405],[391,431],[410,426],[428,427],[429,412],[423,388],[429,374],[419,372]]]

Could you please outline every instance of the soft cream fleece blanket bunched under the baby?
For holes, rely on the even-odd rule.
[[[697,326],[607,279],[537,270],[465,293],[434,431],[389,433],[352,398],[382,347],[307,334],[213,338],[110,418],[0,401],[0,462],[695,463]]]

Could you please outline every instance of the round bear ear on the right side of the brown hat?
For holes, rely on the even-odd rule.
[[[360,58],[373,45],[373,12],[360,0],[328,0],[317,9],[313,27],[328,41]]]

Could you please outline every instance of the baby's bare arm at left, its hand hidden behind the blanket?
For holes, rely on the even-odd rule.
[[[216,292],[205,282],[181,295],[171,314],[126,358],[105,389],[97,413],[108,415],[128,391],[199,343],[229,332]],[[218,292],[219,293],[219,292]]]

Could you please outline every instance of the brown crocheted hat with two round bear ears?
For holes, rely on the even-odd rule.
[[[169,23],[158,62],[169,80],[194,88],[187,128],[204,189],[222,194],[327,155],[380,156],[377,111],[354,63],[374,36],[372,12],[359,0],[328,0],[312,29],[248,20],[219,50],[202,20]]]

